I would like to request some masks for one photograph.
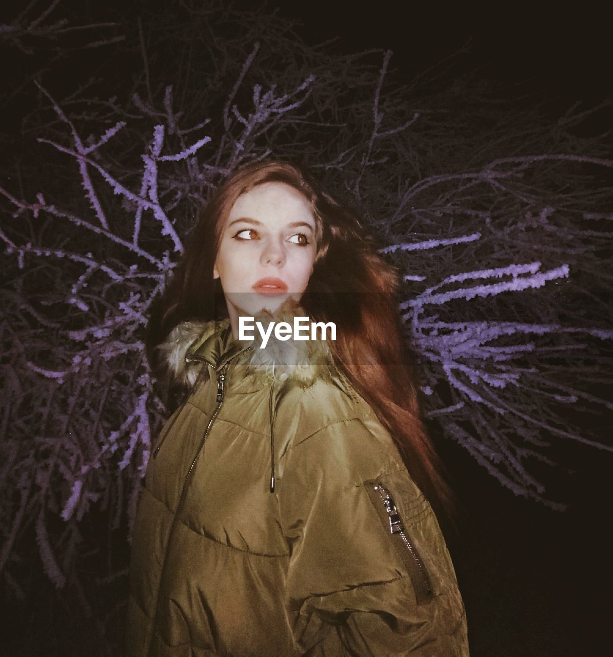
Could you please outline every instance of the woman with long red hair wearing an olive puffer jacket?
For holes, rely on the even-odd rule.
[[[468,654],[395,285],[295,166],[246,166],[207,204],[150,321],[183,401],[135,519],[129,657]],[[263,348],[241,317],[336,339]]]

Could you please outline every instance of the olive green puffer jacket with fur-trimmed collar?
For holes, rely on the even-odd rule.
[[[469,654],[433,511],[326,357],[272,368],[227,322],[164,350],[192,387],[152,445],[126,657]]]

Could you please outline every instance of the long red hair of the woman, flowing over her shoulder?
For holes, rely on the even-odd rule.
[[[389,430],[413,480],[438,510],[453,515],[443,466],[419,413],[414,358],[396,307],[398,277],[376,252],[360,221],[304,170],[287,162],[255,162],[230,176],[203,206],[171,280],[152,309],[146,340],[154,374],[155,348],[182,321],[227,317],[213,265],[222,226],[243,193],[280,182],[301,192],[316,219],[316,261],[301,304],[316,321],[333,321],[335,364]]]

